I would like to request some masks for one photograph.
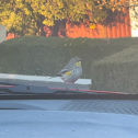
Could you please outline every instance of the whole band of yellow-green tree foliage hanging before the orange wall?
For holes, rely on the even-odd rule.
[[[102,0],[0,0],[0,24],[8,32],[39,35],[42,24],[53,26],[56,20],[103,22],[106,9],[114,5]]]

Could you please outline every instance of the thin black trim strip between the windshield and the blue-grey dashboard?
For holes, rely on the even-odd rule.
[[[14,94],[0,100],[138,100],[138,94]]]

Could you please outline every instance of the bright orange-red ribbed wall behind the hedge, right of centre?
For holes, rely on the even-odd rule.
[[[66,23],[66,36],[68,37],[90,37],[90,38],[117,38],[131,36],[129,11],[108,11],[106,22],[102,24],[82,23],[79,26]],[[91,26],[92,25],[92,26]]]

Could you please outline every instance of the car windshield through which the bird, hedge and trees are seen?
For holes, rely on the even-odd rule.
[[[137,5],[1,0],[0,92],[137,94]]]

